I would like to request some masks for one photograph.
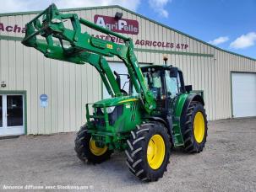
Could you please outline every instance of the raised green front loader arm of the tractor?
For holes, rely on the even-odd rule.
[[[71,29],[64,25],[68,19],[72,24]],[[123,40],[123,44],[95,38],[87,32],[82,32],[81,25],[106,35],[115,36]],[[128,37],[85,19],[79,19],[76,13],[60,13],[56,5],[52,4],[26,24],[25,38],[22,43],[41,51],[48,58],[82,65],[89,63],[100,73],[112,97],[120,96],[122,93],[105,56],[117,56],[128,68],[128,74],[134,88],[139,93],[144,109],[148,113],[155,109],[155,99],[144,82],[144,76],[133,52],[133,40]]]

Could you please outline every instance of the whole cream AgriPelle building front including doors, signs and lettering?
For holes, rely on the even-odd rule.
[[[62,11],[131,37],[140,65],[162,64],[163,55],[168,56],[169,64],[182,69],[185,83],[203,91],[209,120],[256,115],[255,59],[119,6]],[[90,65],[50,60],[21,44],[25,24],[37,13],[0,14],[0,136],[77,131],[85,122],[85,104],[107,97]],[[117,13],[122,17],[115,18]],[[95,30],[82,30],[110,40]],[[117,57],[107,60],[113,70],[126,71]],[[250,99],[244,99],[248,94]]]

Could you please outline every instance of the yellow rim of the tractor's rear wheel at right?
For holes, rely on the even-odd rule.
[[[194,117],[193,136],[198,143],[201,143],[204,139],[204,115],[202,112],[197,112]]]

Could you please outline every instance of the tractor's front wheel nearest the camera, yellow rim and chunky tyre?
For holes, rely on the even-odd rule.
[[[171,142],[166,127],[157,122],[137,125],[128,142],[128,168],[137,178],[156,181],[169,163]]]

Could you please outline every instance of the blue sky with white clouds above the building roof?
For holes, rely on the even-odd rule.
[[[8,0],[0,13],[120,5],[222,49],[256,58],[256,0]]]

